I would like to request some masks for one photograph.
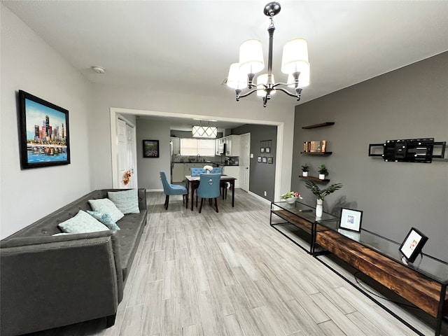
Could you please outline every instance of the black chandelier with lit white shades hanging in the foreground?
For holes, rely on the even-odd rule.
[[[237,102],[240,98],[257,92],[257,95],[262,97],[263,106],[266,107],[267,101],[276,91],[284,92],[299,101],[302,87],[309,85],[308,47],[307,41],[303,38],[295,38],[283,46],[281,72],[286,73],[288,79],[286,83],[275,83],[274,81],[274,75],[272,74],[272,44],[275,30],[273,18],[280,12],[280,9],[280,3],[278,2],[269,2],[264,9],[265,15],[271,20],[271,24],[267,28],[269,33],[267,73],[258,76],[256,85],[254,85],[255,73],[265,68],[259,40],[246,40],[241,43],[239,46],[239,63],[230,65],[227,85],[235,89]],[[255,88],[253,88],[254,86]],[[248,91],[243,93],[242,90],[246,87],[248,87]],[[290,92],[285,87],[293,87],[294,91]]]

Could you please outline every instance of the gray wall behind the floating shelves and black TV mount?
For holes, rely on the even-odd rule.
[[[314,205],[299,179],[300,166],[325,164],[331,183],[344,187],[324,209],[363,210],[363,228],[401,242],[409,228],[429,237],[424,253],[448,261],[448,162],[384,162],[367,156],[369,144],[434,137],[448,141],[448,52],[296,106],[292,189]],[[302,126],[334,121],[314,130]],[[326,158],[300,155],[303,142],[326,139]],[[447,156],[447,155],[445,155]]]

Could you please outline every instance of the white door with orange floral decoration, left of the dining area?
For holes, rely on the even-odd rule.
[[[118,144],[118,188],[137,188],[137,170],[135,169],[135,127],[124,120],[117,120]]]

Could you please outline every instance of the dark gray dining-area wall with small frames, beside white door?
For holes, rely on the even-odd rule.
[[[249,174],[249,190],[266,200],[274,200],[274,186],[275,186],[275,155],[277,148],[277,127],[269,125],[243,125],[234,128],[232,134],[246,134],[251,133],[251,172]],[[271,153],[260,153],[260,141],[271,141]],[[274,163],[258,162],[258,156],[272,157]],[[265,196],[266,191],[266,196]]]

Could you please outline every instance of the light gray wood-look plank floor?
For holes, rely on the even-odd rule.
[[[218,214],[208,203],[202,214],[185,209],[181,196],[170,197],[167,211],[164,202],[163,193],[148,193],[148,225],[116,324],[104,329],[99,319],[33,335],[416,335],[271,228],[268,202],[239,189],[235,208],[228,195]],[[390,305],[434,335],[433,325]]]

